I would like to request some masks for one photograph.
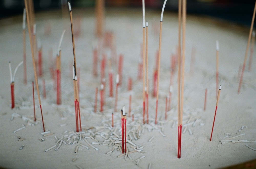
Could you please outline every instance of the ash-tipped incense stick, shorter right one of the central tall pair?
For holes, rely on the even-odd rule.
[[[148,22],[146,21],[146,113],[147,113],[147,124],[148,124]]]

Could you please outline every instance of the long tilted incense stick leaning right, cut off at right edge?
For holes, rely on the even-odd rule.
[[[238,94],[240,93],[240,89],[241,89],[241,85],[242,85],[242,81],[243,81],[243,72],[245,69],[246,59],[247,59],[248,50],[249,50],[249,46],[250,46],[250,42],[251,42],[251,35],[252,35],[253,23],[254,23],[254,19],[255,19],[255,12],[256,12],[256,1],[255,1],[255,5],[254,5],[251,28],[250,28],[249,38],[248,38],[247,47],[246,47],[246,51],[245,51],[245,55],[244,55],[243,68],[242,68],[238,91],[237,91]]]

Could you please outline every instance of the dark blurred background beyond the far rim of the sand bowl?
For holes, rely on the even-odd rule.
[[[162,9],[164,0],[145,0],[150,9]],[[67,0],[34,0],[35,12],[61,9]],[[70,0],[72,7],[93,8],[95,0]],[[254,0],[187,0],[188,14],[206,15],[221,18],[233,23],[250,26],[254,9]],[[141,0],[105,0],[110,8],[141,8]],[[24,0],[0,0],[0,18],[23,13]],[[178,0],[168,0],[165,10],[177,12]]]

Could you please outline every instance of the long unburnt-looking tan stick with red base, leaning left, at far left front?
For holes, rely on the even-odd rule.
[[[38,95],[40,110],[41,110],[43,128],[44,128],[44,132],[45,132],[44,118],[43,118],[43,113],[42,113],[41,99],[40,99],[39,86],[38,86],[38,80],[37,80],[37,72],[36,72],[36,63],[35,63],[34,49],[33,49],[33,44],[32,44],[31,30],[30,30],[30,28],[31,28],[30,27],[30,16],[29,16],[29,11],[28,11],[27,0],[24,0],[24,1],[25,1],[25,7],[26,7],[28,32],[29,32],[29,40],[30,40],[31,54],[32,54],[32,60],[33,60],[34,76],[35,76],[35,81],[36,81],[36,89],[37,89],[37,95]]]

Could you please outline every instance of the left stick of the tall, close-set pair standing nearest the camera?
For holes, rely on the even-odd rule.
[[[179,158],[179,131],[180,131],[180,52],[181,52],[181,7],[182,0],[178,2],[178,158]]]

